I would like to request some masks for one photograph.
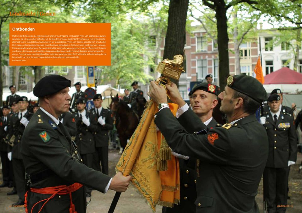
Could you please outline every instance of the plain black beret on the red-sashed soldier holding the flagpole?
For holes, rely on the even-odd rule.
[[[40,79],[34,87],[36,97],[52,95],[60,90],[70,87],[71,81],[60,75],[48,75]]]

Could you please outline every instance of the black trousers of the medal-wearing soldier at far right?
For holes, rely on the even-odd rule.
[[[286,207],[280,206],[287,205],[288,170],[288,167],[264,169],[263,187],[268,213],[286,211]]]

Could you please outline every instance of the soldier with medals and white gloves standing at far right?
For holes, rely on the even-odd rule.
[[[293,117],[280,111],[281,98],[272,94],[267,99],[270,112],[260,118],[269,142],[269,154],[263,173],[264,198],[267,211],[285,212],[289,166],[297,159],[297,135]]]

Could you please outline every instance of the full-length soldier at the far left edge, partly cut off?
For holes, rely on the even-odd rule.
[[[8,125],[8,114],[10,109],[7,105],[2,107],[3,116],[0,118],[0,157],[2,163],[2,178],[3,183],[0,187],[13,187],[13,168],[10,165],[10,161],[7,157],[8,144],[6,142],[7,136],[7,125]]]

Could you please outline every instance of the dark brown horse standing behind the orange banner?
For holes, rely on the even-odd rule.
[[[134,113],[126,102],[119,99],[118,95],[111,96],[111,103],[109,105],[113,116],[115,116],[115,127],[120,138],[120,146],[124,150],[127,145],[127,140],[131,138],[135,131],[143,109],[146,99],[137,99],[138,114]]]

